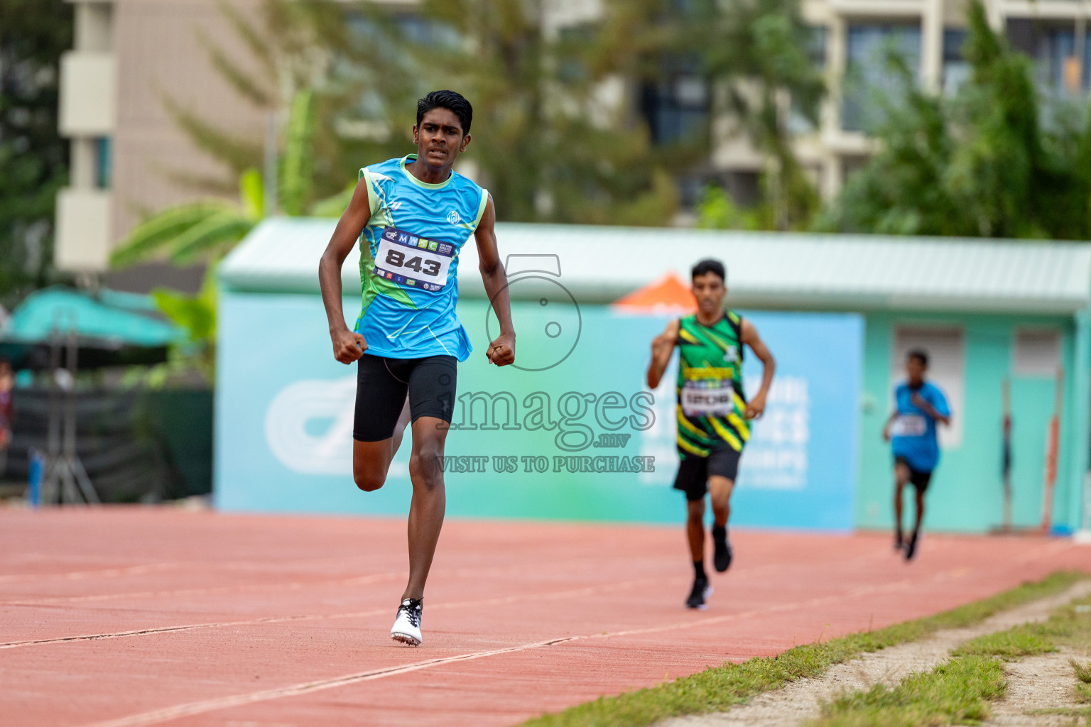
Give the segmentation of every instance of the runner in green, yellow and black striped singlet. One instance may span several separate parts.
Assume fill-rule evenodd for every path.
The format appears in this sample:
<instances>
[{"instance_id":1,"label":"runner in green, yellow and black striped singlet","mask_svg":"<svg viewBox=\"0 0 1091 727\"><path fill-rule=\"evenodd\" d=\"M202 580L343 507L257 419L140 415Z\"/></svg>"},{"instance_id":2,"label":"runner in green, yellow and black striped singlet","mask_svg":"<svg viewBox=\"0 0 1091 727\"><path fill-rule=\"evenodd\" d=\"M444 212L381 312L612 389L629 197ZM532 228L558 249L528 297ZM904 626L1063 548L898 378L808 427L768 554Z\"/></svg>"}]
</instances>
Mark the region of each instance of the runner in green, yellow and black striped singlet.
<instances>
[{"instance_id":1,"label":"runner in green, yellow and black striped singlet","mask_svg":"<svg viewBox=\"0 0 1091 727\"><path fill-rule=\"evenodd\" d=\"M681 462L674 488L686 496L686 534L693 556L694 583L690 608L705 608L712 589L705 571L705 495L712 502L712 543L716 570L731 565L728 517L739 458L750 439L750 421L765 411L776 362L752 323L726 311L728 293L723 264L697 263L691 271L694 315L672 320L651 343L648 386L656 388L679 348L678 450ZM747 402L743 391L743 347L762 361L762 386Z\"/></svg>"}]
</instances>

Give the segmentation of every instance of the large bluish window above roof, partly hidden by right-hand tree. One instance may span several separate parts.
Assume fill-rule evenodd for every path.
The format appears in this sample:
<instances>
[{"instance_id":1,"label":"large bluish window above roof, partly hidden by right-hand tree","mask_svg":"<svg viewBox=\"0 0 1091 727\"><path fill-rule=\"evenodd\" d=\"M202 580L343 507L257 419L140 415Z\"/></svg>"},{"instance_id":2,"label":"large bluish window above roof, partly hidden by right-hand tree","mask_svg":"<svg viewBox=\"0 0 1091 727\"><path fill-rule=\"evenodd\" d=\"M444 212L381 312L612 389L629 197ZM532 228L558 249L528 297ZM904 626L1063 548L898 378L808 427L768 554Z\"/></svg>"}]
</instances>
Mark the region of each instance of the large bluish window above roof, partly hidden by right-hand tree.
<instances>
[{"instance_id":1,"label":"large bluish window above roof, partly hidden by right-hand tree","mask_svg":"<svg viewBox=\"0 0 1091 727\"><path fill-rule=\"evenodd\" d=\"M915 83L921 65L920 25L850 24L841 105L841 128L874 130L885 107L904 94L901 76L888 59L898 57Z\"/></svg>"}]
</instances>

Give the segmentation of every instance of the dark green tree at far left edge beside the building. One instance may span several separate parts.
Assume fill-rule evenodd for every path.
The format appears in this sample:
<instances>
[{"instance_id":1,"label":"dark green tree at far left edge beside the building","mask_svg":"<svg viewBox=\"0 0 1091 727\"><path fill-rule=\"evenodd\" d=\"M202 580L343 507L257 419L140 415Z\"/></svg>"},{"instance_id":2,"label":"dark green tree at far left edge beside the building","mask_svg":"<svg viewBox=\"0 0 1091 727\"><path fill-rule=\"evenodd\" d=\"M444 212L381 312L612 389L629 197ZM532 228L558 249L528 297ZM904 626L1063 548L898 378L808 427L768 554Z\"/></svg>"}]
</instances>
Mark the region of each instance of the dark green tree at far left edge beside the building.
<instances>
[{"instance_id":1,"label":"dark green tree at far left edge beside the building","mask_svg":"<svg viewBox=\"0 0 1091 727\"><path fill-rule=\"evenodd\" d=\"M0 0L0 301L11 305L49 276L53 206L68 180L57 100L72 5Z\"/></svg>"}]
</instances>

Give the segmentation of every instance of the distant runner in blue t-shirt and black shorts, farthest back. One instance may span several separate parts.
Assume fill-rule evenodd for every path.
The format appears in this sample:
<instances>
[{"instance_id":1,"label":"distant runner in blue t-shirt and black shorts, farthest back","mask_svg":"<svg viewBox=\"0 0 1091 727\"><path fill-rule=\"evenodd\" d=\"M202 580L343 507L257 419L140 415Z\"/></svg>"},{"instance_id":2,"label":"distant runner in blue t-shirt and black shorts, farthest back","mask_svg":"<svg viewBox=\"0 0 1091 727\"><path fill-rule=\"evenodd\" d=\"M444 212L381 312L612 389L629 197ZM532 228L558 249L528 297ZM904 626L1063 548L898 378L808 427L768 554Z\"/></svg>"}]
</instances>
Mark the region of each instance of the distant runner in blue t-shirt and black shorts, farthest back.
<instances>
[{"instance_id":1,"label":"distant runner in blue t-shirt and black shorts, farthest back","mask_svg":"<svg viewBox=\"0 0 1091 727\"><path fill-rule=\"evenodd\" d=\"M924 519L924 493L932 481L932 471L939 463L939 441L936 424L950 424L950 409L939 387L924 380L928 354L910 351L906 356L904 384L895 389L895 410L883 428L883 437L894 450L894 538L895 548L904 552L906 560L916 554L916 541ZM916 521L909 541L901 535L901 494L906 483L916 490Z\"/></svg>"}]
</instances>

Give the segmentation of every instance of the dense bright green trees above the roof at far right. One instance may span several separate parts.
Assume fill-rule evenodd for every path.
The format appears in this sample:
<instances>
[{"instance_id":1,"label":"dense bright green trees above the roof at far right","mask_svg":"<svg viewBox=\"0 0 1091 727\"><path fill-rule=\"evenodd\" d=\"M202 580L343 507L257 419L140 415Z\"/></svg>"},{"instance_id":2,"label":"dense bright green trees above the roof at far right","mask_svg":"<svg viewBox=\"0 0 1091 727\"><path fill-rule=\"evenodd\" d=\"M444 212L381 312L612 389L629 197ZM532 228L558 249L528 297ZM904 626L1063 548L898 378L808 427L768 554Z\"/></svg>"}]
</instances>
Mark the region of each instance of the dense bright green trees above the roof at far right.
<instances>
[{"instance_id":1,"label":"dense bright green trees above the roof at far right","mask_svg":"<svg viewBox=\"0 0 1091 727\"><path fill-rule=\"evenodd\" d=\"M906 88L879 150L848 180L819 229L888 234L1082 240L1091 237L1091 114L1052 109L1030 60L968 7L971 78L951 98Z\"/></svg>"}]
</instances>

